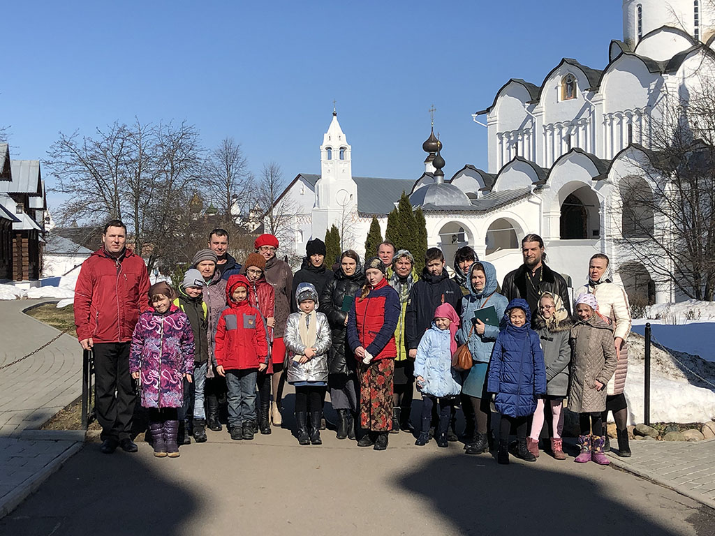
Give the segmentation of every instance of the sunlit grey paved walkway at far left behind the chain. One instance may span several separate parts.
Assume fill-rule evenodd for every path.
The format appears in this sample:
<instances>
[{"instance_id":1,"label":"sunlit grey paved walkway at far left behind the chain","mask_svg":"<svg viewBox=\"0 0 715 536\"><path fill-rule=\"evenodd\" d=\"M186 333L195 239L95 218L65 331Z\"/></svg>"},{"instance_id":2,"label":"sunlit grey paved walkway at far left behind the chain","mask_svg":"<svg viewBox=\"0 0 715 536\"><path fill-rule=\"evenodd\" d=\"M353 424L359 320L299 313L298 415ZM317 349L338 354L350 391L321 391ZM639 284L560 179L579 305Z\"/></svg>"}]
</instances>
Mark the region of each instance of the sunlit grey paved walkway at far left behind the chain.
<instances>
[{"instance_id":1,"label":"sunlit grey paved walkway at far left behind the chain","mask_svg":"<svg viewBox=\"0 0 715 536\"><path fill-rule=\"evenodd\" d=\"M0 301L0 367L29 354L57 330L22 311L43 299ZM0 437L18 437L41 427L82 394L82 350L62 335L41 352L0 370Z\"/></svg>"}]
</instances>

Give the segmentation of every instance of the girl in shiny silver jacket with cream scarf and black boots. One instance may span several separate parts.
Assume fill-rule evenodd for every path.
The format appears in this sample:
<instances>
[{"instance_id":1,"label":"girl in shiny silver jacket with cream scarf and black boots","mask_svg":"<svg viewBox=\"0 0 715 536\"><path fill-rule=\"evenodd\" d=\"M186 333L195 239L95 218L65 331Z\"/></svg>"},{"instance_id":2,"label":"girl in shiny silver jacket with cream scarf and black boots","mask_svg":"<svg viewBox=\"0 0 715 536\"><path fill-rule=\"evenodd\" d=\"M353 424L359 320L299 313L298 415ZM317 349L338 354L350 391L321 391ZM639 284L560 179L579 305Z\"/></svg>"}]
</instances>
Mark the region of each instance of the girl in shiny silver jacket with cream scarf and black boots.
<instances>
[{"instance_id":1,"label":"girl in shiny silver jacket with cream scarf and black boots","mask_svg":"<svg viewBox=\"0 0 715 536\"><path fill-rule=\"evenodd\" d=\"M301 283L295 290L300 312L291 314L285 326L289 357L286 379L295 387L295 422L300 445L321 445L320 418L327 389L327 350L332 338L327 317L317 312L317 290ZM310 432L307 415L310 412Z\"/></svg>"}]
</instances>

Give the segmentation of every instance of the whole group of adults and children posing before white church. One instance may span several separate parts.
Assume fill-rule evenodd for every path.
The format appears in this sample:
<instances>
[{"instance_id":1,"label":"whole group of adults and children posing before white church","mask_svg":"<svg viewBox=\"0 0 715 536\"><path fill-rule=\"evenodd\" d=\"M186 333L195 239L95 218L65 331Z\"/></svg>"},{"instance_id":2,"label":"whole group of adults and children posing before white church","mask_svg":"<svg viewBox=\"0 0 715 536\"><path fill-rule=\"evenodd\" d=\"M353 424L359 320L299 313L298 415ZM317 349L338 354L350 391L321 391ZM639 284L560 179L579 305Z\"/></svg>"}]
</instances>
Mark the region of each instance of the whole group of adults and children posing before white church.
<instances>
[{"instance_id":1,"label":"whole group of adults and children posing before white church","mask_svg":"<svg viewBox=\"0 0 715 536\"><path fill-rule=\"evenodd\" d=\"M207 441L206 427L222 430L222 407L232 440L270 434L282 425L287 381L300 445L321 444L330 392L337 439L360 447L385 450L400 430L413 432L415 445L447 447L458 440L461 407L467 454L495 447L500 463L510 452L536 461L546 423L546 450L564 460L568 399L581 426L577 462L608 463L608 411L618 454L630 455L623 387L631 316L604 254L590 259L572 317L568 285L547 266L536 234L523 238L523 264L501 289L495 267L470 247L456 253L450 277L438 248L418 274L413 254L390 242L364 264L347 250L329 266L325 244L313 239L292 274L275 236L258 237L239 264L228 233L215 229L174 291L149 286L121 221L109 222L102 240L82 265L74 307L79 341L94 351L102 452L137 451L134 382L154 455L177 457L191 437ZM423 400L416 429L415 382Z\"/></svg>"}]
</instances>

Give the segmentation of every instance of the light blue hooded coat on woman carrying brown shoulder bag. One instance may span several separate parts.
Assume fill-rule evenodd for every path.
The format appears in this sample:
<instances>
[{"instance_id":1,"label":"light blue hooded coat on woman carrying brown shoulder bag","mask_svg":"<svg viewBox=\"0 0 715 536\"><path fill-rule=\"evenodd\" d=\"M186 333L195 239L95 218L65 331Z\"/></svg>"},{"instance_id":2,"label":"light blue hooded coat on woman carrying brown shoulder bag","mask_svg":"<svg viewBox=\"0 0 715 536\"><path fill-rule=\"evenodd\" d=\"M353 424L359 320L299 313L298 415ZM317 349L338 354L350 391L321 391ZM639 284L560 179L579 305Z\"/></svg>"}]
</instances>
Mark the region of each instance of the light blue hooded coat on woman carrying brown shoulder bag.
<instances>
[{"instance_id":1,"label":"light blue hooded coat on woman carrying brown shoulder bag","mask_svg":"<svg viewBox=\"0 0 715 536\"><path fill-rule=\"evenodd\" d=\"M493 264L488 262L480 261L480 264L484 267L484 274L486 281L484 284L484 289L482 292L477 292L472 288L472 278L467 277L465 286L467 287L469 294L462 298L462 322L460 324L459 330L457 332L457 342L459 344L464 344L467 342L467 337L469 335L469 330L472 328L474 312L482 307L492 307L496 309L496 317L502 318L504 312L506 311L506 305L508 304L508 299L503 297L501 294L497 294L496 287L498 285L496 279L496 269ZM471 276L471 270L469 270L469 276ZM502 327L506 325L502 322ZM472 359L478 363L488 363L491 357L491 352L494 347L494 341L496 336L499 334L499 328L496 326L485 326L484 334L480 335L477 332L473 332L472 336L469 338L469 351L472 353Z\"/></svg>"}]
</instances>

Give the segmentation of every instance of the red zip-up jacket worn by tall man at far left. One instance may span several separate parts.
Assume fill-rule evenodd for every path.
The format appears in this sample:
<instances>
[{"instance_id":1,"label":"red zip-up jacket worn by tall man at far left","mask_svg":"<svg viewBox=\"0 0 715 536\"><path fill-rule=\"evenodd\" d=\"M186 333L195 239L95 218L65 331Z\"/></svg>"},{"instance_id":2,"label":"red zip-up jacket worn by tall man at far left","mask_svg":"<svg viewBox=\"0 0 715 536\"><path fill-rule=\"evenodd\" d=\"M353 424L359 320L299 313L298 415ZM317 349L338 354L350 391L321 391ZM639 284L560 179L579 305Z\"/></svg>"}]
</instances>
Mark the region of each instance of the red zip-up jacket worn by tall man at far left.
<instances>
[{"instance_id":1,"label":"red zip-up jacket worn by tall man at far left","mask_svg":"<svg viewBox=\"0 0 715 536\"><path fill-rule=\"evenodd\" d=\"M148 292L149 272L142 257L124 249L115 259L104 247L98 249L82 263L74 287L77 339L132 340L139 313L149 309Z\"/></svg>"}]
</instances>

